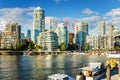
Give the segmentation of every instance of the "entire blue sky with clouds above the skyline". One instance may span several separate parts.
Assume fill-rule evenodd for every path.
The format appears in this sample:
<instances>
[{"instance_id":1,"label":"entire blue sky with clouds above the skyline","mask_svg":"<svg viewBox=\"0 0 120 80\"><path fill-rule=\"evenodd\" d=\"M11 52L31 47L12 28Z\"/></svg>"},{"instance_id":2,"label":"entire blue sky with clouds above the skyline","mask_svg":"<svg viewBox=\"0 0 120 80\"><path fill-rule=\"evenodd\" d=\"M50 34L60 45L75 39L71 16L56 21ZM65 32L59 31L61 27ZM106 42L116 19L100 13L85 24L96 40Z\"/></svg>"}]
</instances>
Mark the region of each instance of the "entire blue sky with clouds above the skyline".
<instances>
[{"instance_id":1,"label":"entire blue sky with clouds above the skyline","mask_svg":"<svg viewBox=\"0 0 120 80\"><path fill-rule=\"evenodd\" d=\"M76 20L87 22L91 34L99 34L101 20L106 21L106 29L111 24L120 25L120 0L0 0L1 27L14 21L22 26L22 32L32 29L33 10L38 6L45 10L46 26L50 18L59 23L66 17L70 31Z\"/></svg>"}]
</instances>

